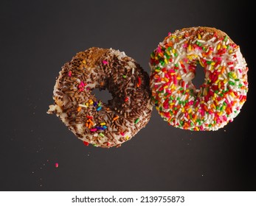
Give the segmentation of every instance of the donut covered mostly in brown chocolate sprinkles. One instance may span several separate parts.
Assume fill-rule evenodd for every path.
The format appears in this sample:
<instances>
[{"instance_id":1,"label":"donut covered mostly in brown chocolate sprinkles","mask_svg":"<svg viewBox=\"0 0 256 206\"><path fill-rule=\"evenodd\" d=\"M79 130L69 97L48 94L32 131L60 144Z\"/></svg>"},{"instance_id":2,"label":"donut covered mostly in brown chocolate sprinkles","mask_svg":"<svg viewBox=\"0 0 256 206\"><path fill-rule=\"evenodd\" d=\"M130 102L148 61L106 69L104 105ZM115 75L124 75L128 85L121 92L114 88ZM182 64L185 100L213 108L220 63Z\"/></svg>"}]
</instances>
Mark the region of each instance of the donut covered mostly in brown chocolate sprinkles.
<instances>
[{"instance_id":1,"label":"donut covered mostly in brown chocolate sprinkles","mask_svg":"<svg viewBox=\"0 0 256 206\"><path fill-rule=\"evenodd\" d=\"M108 103L94 89L108 90ZM53 90L56 114L87 146L110 148L130 140L151 118L149 75L134 59L114 49L78 52L59 72Z\"/></svg>"}]
</instances>

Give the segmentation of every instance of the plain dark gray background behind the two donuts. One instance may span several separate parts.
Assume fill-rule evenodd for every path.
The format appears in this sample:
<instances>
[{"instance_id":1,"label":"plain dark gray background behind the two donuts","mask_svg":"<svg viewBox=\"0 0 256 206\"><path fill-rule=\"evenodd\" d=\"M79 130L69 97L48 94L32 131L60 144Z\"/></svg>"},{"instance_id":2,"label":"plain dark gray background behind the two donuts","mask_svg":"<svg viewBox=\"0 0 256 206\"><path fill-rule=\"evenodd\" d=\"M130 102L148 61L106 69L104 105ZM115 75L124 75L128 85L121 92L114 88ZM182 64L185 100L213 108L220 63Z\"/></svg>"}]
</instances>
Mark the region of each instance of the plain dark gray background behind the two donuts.
<instances>
[{"instance_id":1,"label":"plain dark gray background behind the two donuts","mask_svg":"<svg viewBox=\"0 0 256 206\"><path fill-rule=\"evenodd\" d=\"M255 191L255 20L241 2L1 1L0 190ZM46 114L58 71L78 51L120 49L149 73L159 41L189 26L223 30L248 63L247 102L224 129L177 129L154 109L131 141L101 149Z\"/></svg>"}]
</instances>

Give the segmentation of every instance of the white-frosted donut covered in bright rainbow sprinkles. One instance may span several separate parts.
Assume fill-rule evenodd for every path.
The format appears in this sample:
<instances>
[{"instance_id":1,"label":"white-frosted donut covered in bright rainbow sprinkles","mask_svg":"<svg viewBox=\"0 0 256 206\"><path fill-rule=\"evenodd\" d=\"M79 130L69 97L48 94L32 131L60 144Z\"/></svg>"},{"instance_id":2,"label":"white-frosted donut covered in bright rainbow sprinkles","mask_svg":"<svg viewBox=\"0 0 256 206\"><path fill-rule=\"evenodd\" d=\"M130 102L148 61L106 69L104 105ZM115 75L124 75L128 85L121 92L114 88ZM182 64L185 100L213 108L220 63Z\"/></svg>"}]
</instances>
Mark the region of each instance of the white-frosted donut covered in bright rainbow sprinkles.
<instances>
[{"instance_id":1,"label":"white-frosted donut covered in bright rainbow sprinkles","mask_svg":"<svg viewBox=\"0 0 256 206\"><path fill-rule=\"evenodd\" d=\"M153 104L174 127L218 130L246 102L246 61L240 47L219 29L198 26L169 33L151 53L149 64ZM192 80L202 69L198 65L205 77L196 88Z\"/></svg>"}]
</instances>

